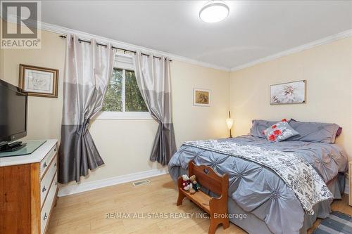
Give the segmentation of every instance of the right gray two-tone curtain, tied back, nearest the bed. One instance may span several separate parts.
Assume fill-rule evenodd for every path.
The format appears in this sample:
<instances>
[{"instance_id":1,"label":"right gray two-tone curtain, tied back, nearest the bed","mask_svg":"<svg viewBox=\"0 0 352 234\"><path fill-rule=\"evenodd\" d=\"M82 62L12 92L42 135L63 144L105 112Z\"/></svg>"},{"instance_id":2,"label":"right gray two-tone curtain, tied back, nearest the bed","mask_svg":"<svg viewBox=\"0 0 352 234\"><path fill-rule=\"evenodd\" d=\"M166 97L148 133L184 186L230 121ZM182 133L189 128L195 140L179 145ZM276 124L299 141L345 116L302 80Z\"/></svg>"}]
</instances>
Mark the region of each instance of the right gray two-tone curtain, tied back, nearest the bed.
<instances>
[{"instance_id":1,"label":"right gray two-tone curtain, tied back, nearest the bed","mask_svg":"<svg viewBox=\"0 0 352 234\"><path fill-rule=\"evenodd\" d=\"M154 58L153 54L134 55L135 75L146 107L158 122L158 131L151 150L151 161L167 165L176 152L175 134L171 118L170 61Z\"/></svg>"}]
</instances>

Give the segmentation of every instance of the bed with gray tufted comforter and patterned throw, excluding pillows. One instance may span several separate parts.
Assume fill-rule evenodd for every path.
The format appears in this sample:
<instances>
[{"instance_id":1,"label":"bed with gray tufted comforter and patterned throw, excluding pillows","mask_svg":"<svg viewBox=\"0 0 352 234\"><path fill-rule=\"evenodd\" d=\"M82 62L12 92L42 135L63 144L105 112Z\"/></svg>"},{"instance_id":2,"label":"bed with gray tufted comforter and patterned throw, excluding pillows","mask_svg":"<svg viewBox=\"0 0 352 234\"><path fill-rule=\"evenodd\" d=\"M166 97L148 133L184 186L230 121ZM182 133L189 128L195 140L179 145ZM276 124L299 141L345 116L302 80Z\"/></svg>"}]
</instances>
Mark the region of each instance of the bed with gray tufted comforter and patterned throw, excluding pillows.
<instances>
[{"instance_id":1,"label":"bed with gray tufted comforter and patterned throw, excluding pillows","mask_svg":"<svg viewBox=\"0 0 352 234\"><path fill-rule=\"evenodd\" d=\"M295 178L287 181L292 174L285 177L282 171L294 168L297 162L287 160L284 162L286 165L279 165L278 169L267 167L265 162L241 154L243 148L251 150L249 156L278 154L279 159L296 157L294 160L307 165L296 177L293 176ZM190 141L184 143L170 160L169 173L174 181L177 181L178 176L187 174L190 160L196 164L209 165L220 174L229 174L229 214L241 214L232 217L246 217L230 221L248 233L306 233L318 217L324 219L329 215L332 198L340 199L344 192L347 156L338 145L332 143L272 143L251 135ZM290 165L290 162L294 164ZM305 178L306 174L313 177ZM318 175L318 178L314 178L314 175ZM315 195L299 186L294 189L294 183L304 179L304 183L309 181L310 190L315 190L316 200L312 198ZM298 193L301 193L301 197ZM308 202L311 207L302 202L304 195L311 198Z\"/></svg>"}]
</instances>

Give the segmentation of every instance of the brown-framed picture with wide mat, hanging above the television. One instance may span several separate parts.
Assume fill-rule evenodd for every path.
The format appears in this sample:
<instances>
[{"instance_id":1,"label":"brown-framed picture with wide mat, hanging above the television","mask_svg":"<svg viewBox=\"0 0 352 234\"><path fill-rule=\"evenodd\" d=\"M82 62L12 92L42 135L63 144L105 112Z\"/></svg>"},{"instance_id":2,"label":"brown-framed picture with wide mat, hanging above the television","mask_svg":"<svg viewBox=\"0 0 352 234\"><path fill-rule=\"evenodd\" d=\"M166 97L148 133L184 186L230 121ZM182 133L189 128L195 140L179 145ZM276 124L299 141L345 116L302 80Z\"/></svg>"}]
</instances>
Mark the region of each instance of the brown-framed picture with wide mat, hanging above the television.
<instances>
[{"instance_id":1,"label":"brown-framed picture with wide mat, hanging above the television","mask_svg":"<svg viewBox=\"0 0 352 234\"><path fill-rule=\"evenodd\" d=\"M58 70L20 64L18 86L29 96L58 97Z\"/></svg>"}]
</instances>

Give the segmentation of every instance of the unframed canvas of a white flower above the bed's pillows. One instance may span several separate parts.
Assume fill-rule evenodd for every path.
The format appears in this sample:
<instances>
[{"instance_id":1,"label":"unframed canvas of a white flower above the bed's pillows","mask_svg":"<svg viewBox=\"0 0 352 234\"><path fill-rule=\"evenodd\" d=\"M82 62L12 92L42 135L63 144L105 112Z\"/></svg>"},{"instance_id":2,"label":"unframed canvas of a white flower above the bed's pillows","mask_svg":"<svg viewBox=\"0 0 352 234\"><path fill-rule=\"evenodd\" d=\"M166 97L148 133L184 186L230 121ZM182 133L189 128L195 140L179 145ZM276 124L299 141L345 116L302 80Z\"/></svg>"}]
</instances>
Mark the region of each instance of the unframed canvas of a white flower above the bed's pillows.
<instances>
[{"instance_id":1,"label":"unframed canvas of a white flower above the bed's pillows","mask_svg":"<svg viewBox=\"0 0 352 234\"><path fill-rule=\"evenodd\" d=\"M270 105L306 103L306 80L270 85Z\"/></svg>"}]
</instances>

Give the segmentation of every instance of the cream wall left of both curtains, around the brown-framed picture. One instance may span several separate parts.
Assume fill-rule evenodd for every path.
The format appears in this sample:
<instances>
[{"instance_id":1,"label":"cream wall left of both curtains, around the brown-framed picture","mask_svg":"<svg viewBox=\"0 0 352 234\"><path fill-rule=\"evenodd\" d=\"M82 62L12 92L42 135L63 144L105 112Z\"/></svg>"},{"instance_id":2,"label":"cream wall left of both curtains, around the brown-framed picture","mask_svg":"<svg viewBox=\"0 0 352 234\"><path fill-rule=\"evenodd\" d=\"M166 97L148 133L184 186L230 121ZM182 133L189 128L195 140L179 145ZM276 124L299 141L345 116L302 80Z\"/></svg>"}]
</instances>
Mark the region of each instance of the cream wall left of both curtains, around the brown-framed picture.
<instances>
[{"instance_id":1,"label":"cream wall left of both curtains, around the brown-framed picture","mask_svg":"<svg viewBox=\"0 0 352 234\"><path fill-rule=\"evenodd\" d=\"M28 97L28 129L24 139L59 138L63 105L65 41L42 32L41 49L1 49L0 79L18 86L20 63L58 69L58 98Z\"/></svg>"}]
</instances>

